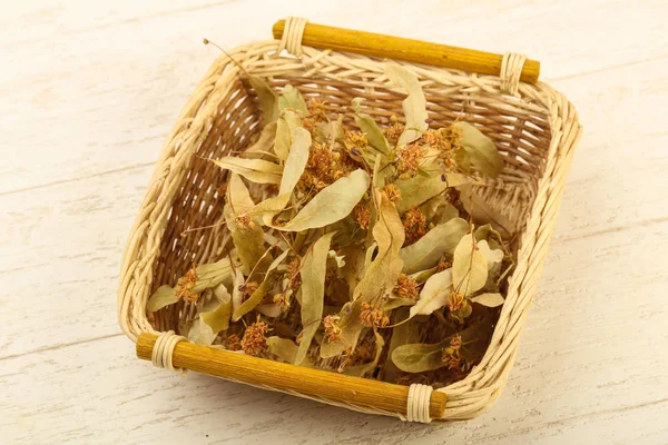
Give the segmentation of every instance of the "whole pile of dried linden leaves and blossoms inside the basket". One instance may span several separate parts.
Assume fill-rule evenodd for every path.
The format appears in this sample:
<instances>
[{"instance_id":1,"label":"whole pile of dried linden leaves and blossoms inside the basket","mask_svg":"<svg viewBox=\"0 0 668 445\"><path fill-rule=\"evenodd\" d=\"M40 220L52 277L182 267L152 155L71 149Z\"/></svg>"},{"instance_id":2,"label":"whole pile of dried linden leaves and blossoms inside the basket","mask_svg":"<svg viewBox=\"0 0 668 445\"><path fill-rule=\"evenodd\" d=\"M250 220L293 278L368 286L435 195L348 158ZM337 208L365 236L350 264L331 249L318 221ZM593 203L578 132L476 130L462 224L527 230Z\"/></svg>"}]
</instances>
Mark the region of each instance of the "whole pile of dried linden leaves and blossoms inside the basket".
<instances>
[{"instance_id":1,"label":"whole pile of dried linden leaves and blossoms inside the basket","mask_svg":"<svg viewBox=\"0 0 668 445\"><path fill-rule=\"evenodd\" d=\"M147 310L185 300L191 342L253 356L400 384L463 378L512 266L463 195L502 158L472 125L430 129L418 79L399 65L386 76L407 96L405 123L385 128L361 98L346 125L289 85L277 93L249 77L265 127L213 160L225 256L159 287Z\"/></svg>"}]
</instances>

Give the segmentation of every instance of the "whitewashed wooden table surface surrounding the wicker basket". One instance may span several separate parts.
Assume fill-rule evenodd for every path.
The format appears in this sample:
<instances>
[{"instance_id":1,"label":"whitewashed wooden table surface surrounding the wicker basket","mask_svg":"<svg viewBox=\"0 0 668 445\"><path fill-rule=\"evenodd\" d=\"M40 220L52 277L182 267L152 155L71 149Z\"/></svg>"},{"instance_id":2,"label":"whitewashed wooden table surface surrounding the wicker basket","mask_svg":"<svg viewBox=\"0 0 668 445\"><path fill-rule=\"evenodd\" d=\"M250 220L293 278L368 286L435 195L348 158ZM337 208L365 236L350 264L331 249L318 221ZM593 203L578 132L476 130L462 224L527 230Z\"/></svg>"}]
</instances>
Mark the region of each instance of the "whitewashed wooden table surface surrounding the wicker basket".
<instances>
[{"instance_id":1,"label":"whitewashed wooden table surface surrounding the wicker basket","mask_svg":"<svg viewBox=\"0 0 668 445\"><path fill-rule=\"evenodd\" d=\"M402 3L3 6L0 443L668 443L668 4ZM410 425L183 378L120 334L121 250L161 142L218 56L202 38L267 39L288 14L524 52L579 109L584 136L515 368L474 421Z\"/></svg>"}]
</instances>

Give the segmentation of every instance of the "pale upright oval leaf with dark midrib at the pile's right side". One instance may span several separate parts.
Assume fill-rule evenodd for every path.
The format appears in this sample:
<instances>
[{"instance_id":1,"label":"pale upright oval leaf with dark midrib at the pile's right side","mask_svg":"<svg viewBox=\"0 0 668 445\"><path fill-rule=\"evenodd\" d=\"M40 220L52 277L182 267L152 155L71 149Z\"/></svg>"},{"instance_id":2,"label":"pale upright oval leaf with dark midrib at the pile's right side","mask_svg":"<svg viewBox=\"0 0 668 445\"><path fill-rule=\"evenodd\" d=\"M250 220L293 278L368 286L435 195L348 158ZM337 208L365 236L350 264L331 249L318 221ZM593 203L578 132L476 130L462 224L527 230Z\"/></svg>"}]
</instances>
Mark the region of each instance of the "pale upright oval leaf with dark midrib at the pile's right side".
<instances>
[{"instance_id":1,"label":"pale upright oval leaf with dark midrib at the pile's right side","mask_svg":"<svg viewBox=\"0 0 668 445\"><path fill-rule=\"evenodd\" d=\"M484 255L473 243L473 235L464 235L454 249L452 258L452 280L454 289L465 297L482 289L488 277Z\"/></svg>"}]
</instances>

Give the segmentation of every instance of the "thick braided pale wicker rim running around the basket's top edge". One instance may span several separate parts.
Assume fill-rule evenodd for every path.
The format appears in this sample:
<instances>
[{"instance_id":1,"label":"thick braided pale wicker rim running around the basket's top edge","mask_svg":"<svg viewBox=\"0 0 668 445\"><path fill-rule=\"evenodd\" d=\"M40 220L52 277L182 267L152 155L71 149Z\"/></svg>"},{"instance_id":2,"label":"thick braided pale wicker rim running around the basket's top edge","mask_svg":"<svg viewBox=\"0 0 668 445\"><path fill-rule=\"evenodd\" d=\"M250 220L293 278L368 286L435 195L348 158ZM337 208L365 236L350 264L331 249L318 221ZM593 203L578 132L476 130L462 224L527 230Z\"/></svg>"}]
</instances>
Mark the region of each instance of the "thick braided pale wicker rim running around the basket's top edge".
<instances>
[{"instance_id":1,"label":"thick braided pale wicker rim running around the basket's top edge","mask_svg":"<svg viewBox=\"0 0 668 445\"><path fill-rule=\"evenodd\" d=\"M134 342L137 342L143 332L156 333L147 319L145 305L153 285L153 265L157 259L168 210L191 155L208 134L213 116L217 111L217 99L225 97L234 80L242 73L236 63L243 65L249 72L265 77L291 72L310 77L320 72L321 76L344 79L358 87L382 86L393 89L383 77L382 67L386 61L311 47L302 47L301 59L276 57L278 44L277 40L252 42L228 51L229 56L220 56L196 87L165 142L130 231L121 264L117 315L121 329ZM236 63L233 63L230 57L234 57ZM520 237L517 265L509 277L505 304L490 345L481 363L464 379L436 389L446 393L449 398L443 419L470 418L491 406L509 377L519 334L547 257L567 174L582 127L573 106L547 83L520 83L518 93L513 97L501 92L498 76L479 76L404 61L397 63L412 70L423 85L466 89L471 93L483 91L487 95L498 95L500 106L508 107L509 110L541 110L552 132L544 169L538 181L538 192ZM330 70L323 71L324 68ZM331 68L347 71L351 76L344 77ZM345 407L351 408L348 405Z\"/></svg>"}]
</instances>

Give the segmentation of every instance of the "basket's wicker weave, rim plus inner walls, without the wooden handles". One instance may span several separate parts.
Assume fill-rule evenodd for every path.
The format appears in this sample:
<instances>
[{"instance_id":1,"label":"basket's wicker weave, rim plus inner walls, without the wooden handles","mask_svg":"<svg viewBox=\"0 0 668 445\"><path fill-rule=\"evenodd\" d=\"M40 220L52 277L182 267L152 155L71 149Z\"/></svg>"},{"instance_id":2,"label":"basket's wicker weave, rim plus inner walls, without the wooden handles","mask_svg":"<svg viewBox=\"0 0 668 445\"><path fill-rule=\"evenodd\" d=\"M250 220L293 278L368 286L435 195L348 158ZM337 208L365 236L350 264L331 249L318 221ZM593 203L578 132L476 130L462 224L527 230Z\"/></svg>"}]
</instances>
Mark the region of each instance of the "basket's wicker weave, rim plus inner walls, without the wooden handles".
<instances>
[{"instance_id":1,"label":"basket's wicker weave, rim plus inner walls, without the wooden handles","mask_svg":"<svg viewBox=\"0 0 668 445\"><path fill-rule=\"evenodd\" d=\"M250 43L230 51L230 56L245 70L272 78L277 87L289 81L305 95L320 95L334 107L363 96L366 111L375 112L375 118L401 113L403 96L387 86L379 60L308 47L301 48L301 59L275 57L277 44ZM480 123L504 151L508 174L478 188L477 194L495 202L509 220L523 228L518 264L488 352L466 378L439 389L449 397L444 419L469 418L499 396L512 368L581 127L573 107L547 85L520 83L513 97L502 93L501 81L494 76L405 66L435 98L428 107L436 125L464 117ZM150 293L164 283L174 284L194 259L204 263L222 255L225 236L219 226L189 233L185 238L180 234L215 225L222 218L217 192L220 175L202 158L238 150L258 131L255 98L242 77L227 56L216 60L186 103L157 162L121 266L118 319L135 342L143 332L178 329L194 314L194 307L179 303L176 310L161 310L149 319L145 306ZM318 80L310 80L315 78ZM386 110L386 115L379 110Z\"/></svg>"}]
</instances>

